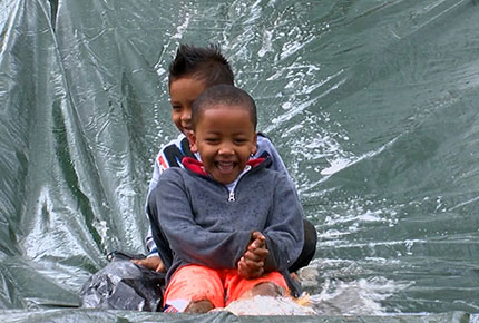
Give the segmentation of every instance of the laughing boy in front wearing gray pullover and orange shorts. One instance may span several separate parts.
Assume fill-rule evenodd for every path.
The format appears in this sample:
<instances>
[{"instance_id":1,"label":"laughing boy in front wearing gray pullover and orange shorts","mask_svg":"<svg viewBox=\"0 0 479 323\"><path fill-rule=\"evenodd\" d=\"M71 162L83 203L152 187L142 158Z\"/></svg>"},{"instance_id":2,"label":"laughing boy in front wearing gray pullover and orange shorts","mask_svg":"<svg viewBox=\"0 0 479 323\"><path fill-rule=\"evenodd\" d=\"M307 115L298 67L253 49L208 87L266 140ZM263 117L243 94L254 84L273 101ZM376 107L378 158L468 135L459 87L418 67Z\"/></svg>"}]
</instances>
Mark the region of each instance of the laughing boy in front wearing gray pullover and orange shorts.
<instances>
[{"instance_id":1,"label":"laughing boy in front wearing gray pullover and orange shorts","mask_svg":"<svg viewBox=\"0 0 479 323\"><path fill-rule=\"evenodd\" d=\"M147 207L154 233L173 251L167 311L207 312L289 290L287 268L304 244L303 211L270 158L250 159L256 123L253 99L233 86L208 88L193 104L188 139L202 161L185 157L185 169L166 169Z\"/></svg>"}]
</instances>

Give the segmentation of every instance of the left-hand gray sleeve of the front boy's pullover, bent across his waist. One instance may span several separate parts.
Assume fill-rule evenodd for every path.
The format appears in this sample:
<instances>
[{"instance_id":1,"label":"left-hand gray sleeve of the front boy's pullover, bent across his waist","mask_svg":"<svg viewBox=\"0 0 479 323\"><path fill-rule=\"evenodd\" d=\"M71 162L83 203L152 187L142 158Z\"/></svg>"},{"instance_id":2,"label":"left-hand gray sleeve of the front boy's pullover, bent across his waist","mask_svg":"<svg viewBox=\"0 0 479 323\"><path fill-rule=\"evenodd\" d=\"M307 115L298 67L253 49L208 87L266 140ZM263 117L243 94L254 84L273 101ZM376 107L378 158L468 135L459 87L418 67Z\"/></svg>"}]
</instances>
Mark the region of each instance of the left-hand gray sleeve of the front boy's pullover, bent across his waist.
<instances>
[{"instance_id":1,"label":"left-hand gray sleeve of the front boy's pullover, bent across his waist","mask_svg":"<svg viewBox=\"0 0 479 323\"><path fill-rule=\"evenodd\" d=\"M159 224L175 257L212 268L235 268L246 251L250 231L209 232L195 223L190 198L182 172L169 168L154 189Z\"/></svg>"}]
</instances>

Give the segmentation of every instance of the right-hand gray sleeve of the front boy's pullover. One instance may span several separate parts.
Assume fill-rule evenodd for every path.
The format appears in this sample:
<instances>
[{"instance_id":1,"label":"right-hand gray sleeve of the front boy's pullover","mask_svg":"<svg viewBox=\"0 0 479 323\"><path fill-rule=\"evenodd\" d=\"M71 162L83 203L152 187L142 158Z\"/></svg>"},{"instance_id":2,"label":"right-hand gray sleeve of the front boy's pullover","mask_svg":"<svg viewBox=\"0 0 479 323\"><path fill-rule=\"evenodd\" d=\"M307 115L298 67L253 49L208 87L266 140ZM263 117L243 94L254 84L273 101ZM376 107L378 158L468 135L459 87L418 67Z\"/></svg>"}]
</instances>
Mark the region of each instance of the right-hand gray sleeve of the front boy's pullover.
<instances>
[{"instance_id":1,"label":"right-hand gray sleeve of the front boy's pullover","mask_svg":"<svg viewBox=\"0 0 479 323\"><path fill-rule=\"evenodd\" d=\"M278 174L276 179L272 212L263 232L270 251L265 271L289 268L304 244L303 208L296 192L285 176Z\"/></svg>"}]
</instances>

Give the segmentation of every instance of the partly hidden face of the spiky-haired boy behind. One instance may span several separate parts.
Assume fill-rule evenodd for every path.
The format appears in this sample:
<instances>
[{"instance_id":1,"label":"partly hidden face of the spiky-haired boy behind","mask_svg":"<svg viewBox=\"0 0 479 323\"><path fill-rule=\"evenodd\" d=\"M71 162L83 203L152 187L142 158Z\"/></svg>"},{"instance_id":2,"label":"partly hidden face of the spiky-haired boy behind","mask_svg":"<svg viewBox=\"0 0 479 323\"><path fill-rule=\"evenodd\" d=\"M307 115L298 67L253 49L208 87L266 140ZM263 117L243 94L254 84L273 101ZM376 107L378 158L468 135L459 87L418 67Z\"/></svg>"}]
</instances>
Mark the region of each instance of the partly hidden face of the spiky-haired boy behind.
<instances>
[{"instance_id":1,"label":"partly hidden face of the spiky-haired boy behind","mask_svg":"<svg viewBox=\"0 0 479 323\"><path fill-rule=\"evenodd\" d=\"M193 77L178 78L169 84L172 119L179 131L192 131L193 101L206 89L204 82Z\"/></svg>"}]
</instances>

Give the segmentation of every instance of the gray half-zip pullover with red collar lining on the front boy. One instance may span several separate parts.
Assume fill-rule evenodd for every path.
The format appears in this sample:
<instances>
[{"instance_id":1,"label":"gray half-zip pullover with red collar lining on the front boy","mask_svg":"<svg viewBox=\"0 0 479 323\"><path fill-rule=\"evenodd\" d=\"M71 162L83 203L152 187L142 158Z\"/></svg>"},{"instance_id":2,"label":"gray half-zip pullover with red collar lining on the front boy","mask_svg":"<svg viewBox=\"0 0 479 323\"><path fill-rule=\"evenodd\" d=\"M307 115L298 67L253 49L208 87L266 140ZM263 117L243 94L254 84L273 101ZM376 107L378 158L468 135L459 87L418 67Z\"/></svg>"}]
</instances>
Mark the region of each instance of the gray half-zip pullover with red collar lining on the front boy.
<instances>
[{"instance_id":1,"label":"gray half-zip pullover with red collar lining on the front boy","mask_svg":"<svg viewBox=\"0 0 479 323\"><path fill-rule=\"evenodd\" d=\"M231 194L199 174L199 161L192 163L190 169L166 169L148 199L151 228L173 251L167 282L187 264L235 268L253 231L266 237L265 271L286 273L304 244L303 209L289 178L266 168L267 158L246 172Z\"/></svg>"}]
</instances>

